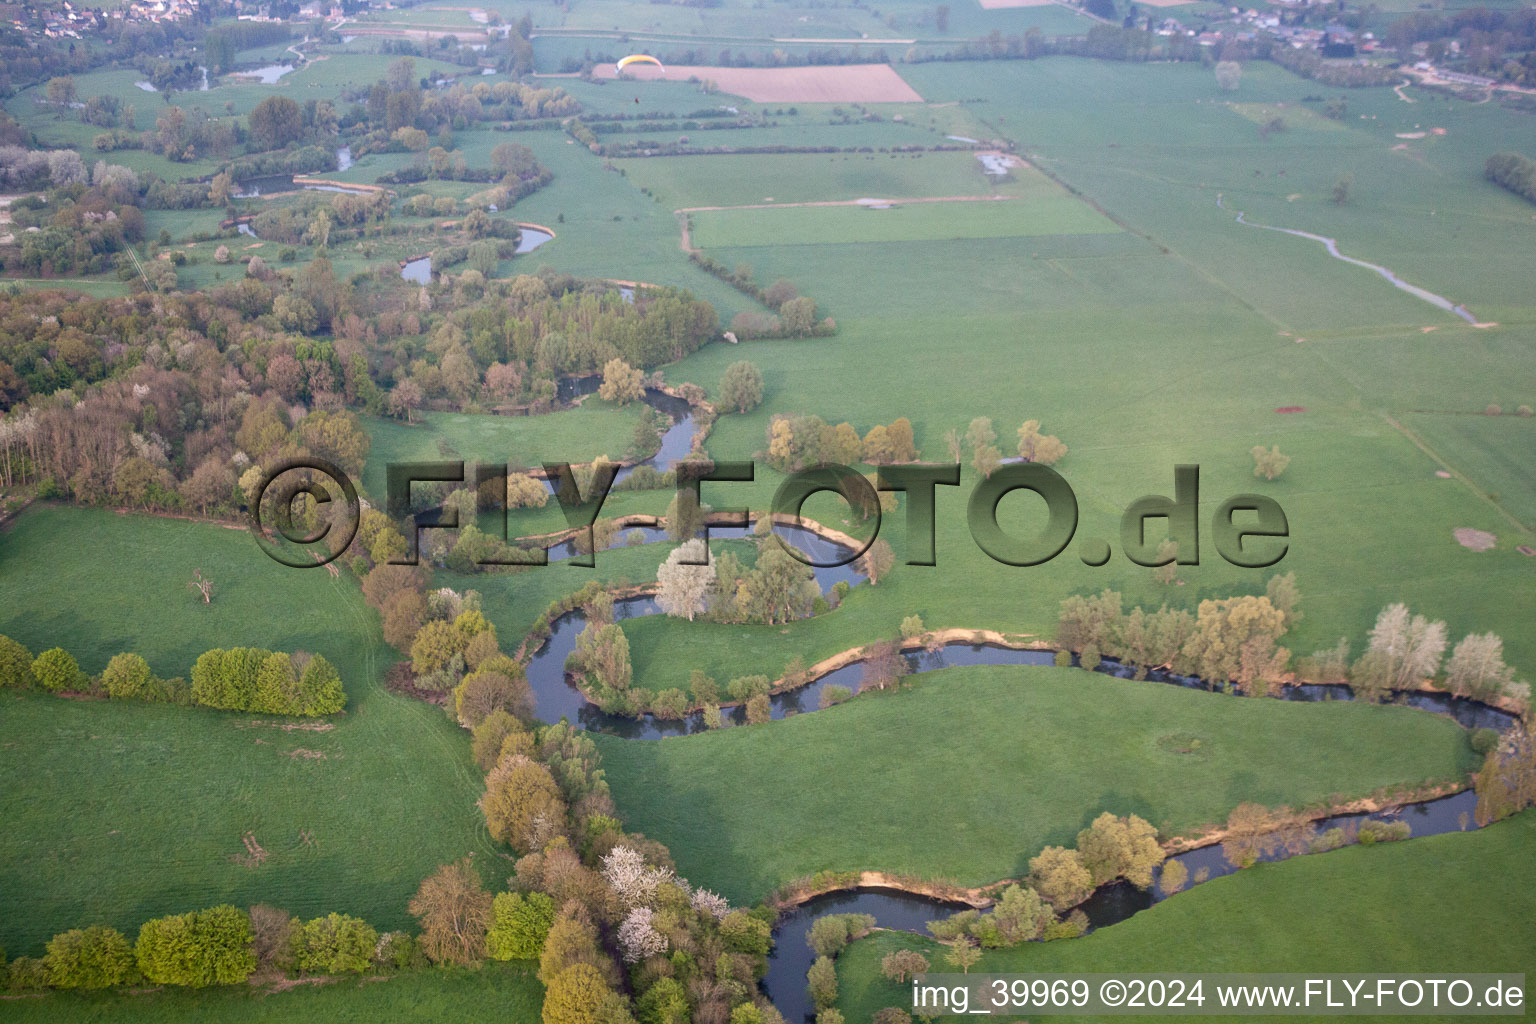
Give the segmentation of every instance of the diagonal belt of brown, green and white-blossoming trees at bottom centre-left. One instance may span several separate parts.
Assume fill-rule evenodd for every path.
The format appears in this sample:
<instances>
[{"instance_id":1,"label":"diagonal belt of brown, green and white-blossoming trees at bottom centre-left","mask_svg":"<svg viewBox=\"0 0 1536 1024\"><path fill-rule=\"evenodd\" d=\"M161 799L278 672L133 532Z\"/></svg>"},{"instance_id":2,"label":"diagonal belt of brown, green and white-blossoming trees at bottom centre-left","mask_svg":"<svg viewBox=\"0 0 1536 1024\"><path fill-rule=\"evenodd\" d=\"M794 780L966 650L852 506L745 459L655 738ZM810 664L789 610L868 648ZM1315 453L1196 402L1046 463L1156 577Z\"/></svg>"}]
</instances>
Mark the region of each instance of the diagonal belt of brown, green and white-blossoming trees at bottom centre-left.
<instances>
[{"instance_id":1,"label":"diagonal belt of brown, green and white-blossoming trees at bottom centre-left","mask_svg":"<svg viewBox=\"0 0 1536 1024\"><path fill-rule=\"evenodd\" d=\"M375 545L398 536L378 519L367 533ZM362 534L359 528L359 556ZM479 808L487 831L518 855L508 892L487 892L468 860L422 883L409 907L421 924L421 955L438 964L536 958L547 1024L690 1015L782 1024L756 986L771 912L733 910L680 878L665 846L624 831L596 745L568 723L533 720L522 665L501 652L478 596L429 593L430 574L418 567L359 570L390 642L410 649L416 683L425 689L458 679L449 712L470 732L473 758L485 771ZM593 582L554 602L530 639L576 606L611 625L611 597Z\"/></svg>"}]
</instances>

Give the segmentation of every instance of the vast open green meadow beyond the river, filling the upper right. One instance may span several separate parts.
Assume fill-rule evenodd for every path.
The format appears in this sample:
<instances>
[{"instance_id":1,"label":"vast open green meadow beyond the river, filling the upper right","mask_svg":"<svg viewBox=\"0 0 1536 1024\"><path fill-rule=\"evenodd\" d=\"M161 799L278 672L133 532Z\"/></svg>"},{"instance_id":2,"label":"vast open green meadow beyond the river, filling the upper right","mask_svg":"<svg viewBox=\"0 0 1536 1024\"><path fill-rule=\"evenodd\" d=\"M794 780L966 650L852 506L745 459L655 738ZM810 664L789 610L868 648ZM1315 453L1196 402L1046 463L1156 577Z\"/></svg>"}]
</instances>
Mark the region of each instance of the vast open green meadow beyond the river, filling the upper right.
<instances>
[{"instance_id":1,"label":"vast open green meadow beyond the river, filling the upper right","mask_svg":"<svg viewBox=\"0 0 1536 1024\"><path fill-rule=\"evenodd\" d=\"M1261 141L1256 126L1226 106L1209 72L1195 68L1041 60L988 68L986 75L954 64L903 74L925 97L963 100L985 91L975 114L998 132L1028 132L1028 157L1130 230L920 247L710 247L727 266L753 266L759 281L800 282L839 322L831 339L759 342L745 352L708 347L668 370L673 379L713 387L743 355L762 367L763 405L722 418L710 439L716 457L760 450L773 413L817 411L862 431L903 415L929 459L945 457L943 431L963 430L971 416L994 418L1005 451L1018 421L1038 418L1072 448L1057 468L1078 494L1083 537L1112 539L1120 510L1138 494L1167 493L1178 462L1201 465L1210 508L1247 490L1278 499L1293 530L1278 568L1298 574L1307 602L1307 617L1287 637L1293 651L1309 652L1341 634L1358 643L1378 608L1407 600L1445 619L1453 637L1499 633L1511 660L1530 674L1536 646L1524 623L1536 614L1536 591L1528 586L1531 563L1513 548L1530 543L1531 533L1484 497L1498 493L1516 520L1527 522L1518 511L1527 500L1519 481L1531 476L1531 447L1519 441L1527 421L1459 427L1479 418L1455 418L1458 430L1508 441L1468 436L1438 445L1444 427L1412 415L1479 411L1488 402L1510 410L1536 395L1536 309L1516 284L1533 252L1518 241L1530 232L1528 204L1481 180L1482 155L1504 144L1511 114L1447 109L1444 100L1425 109L1428 101L1402 104L1389 89L1353 91L1344 121L1295 117L1296 127ZM1290 109L1309 88L1253 64L1240 98ZM1028 97L1028 106L1018 97ZM1362 112L1375 120L1359 120ZM1091 118L1092 134L1084 130ZM1396 132L1416 121L1442 121L1448 135L1416 143L1422 152L1410 160L1392 146ZM1178 130L1167 130L1169 123ZM668 204L691 206L690 189L700 200L759 190L759 200L783 198L766 181L710 186L702 172L633 163L631 175L654 183ZM809 166L797 161L788 180L808 180ZM1355 173L1358 198L1335 207L1326 193L1341 170ZM857 192L857 177L833 187ZM1218 190L1226 212L1215 207ZM1233 209L1261 223L1335 235L1346 252L1465 299L1501 325L1461 324L1370 272L1338 264L1316 243L1233 224ZM703 229L708 215L699 216ZM1475 267L1487 252L1508 253L1508 266L1478 278ZM929 372L935 359L943 372ZM1290 405L1307 411L1275 413ZM1413 431L1422 427L1427 447L1473 487L1438 479L1441 464L1393 421ZM1295 456L1284 477L1253 479L1246 453L1255 444L1278 444ZM759 485L731 494L765 504L777 476L759 467ZM914 611L929 626L1049 634L1058 599L1072 591L1107 585L1130 602L1192 608L1203 597L1263 585L1263 573L1203 559L1183 574L1187 586L1163 590L1120 559L1087 571L1075 548L1048 567L1009 570L975 551L963 525L968 487L940 491L940 570L899 565L863 605L849 602L825 622L794 623L785 633L737 631L734 642L716 639L708 625L625 623L637 669L648 666L642 685L653 671L667 680L657 685L674 685L677 671L685 676L694 663L728 679L777 669L794 654L814 660L894 631ZM1452 539L1458 527L1495 533L1499 548L1459 548ZM885 530L900 556L900 516ZM677 662L688 665L674 671Z\"/></svg>"}]
</instances>

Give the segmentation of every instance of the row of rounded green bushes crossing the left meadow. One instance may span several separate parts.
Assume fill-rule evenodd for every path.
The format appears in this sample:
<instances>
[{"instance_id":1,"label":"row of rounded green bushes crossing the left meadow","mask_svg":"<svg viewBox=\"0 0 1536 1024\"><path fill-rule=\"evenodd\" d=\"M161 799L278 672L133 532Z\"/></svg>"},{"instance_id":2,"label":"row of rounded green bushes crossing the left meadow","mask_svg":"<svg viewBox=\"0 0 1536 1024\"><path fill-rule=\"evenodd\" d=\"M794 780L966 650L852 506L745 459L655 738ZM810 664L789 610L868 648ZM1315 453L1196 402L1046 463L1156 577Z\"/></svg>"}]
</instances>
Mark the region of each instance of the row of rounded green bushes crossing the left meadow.
<instances>
[{"instance_id":1,"label":"row of rounded green bushes crossing the left meadow","mask_svg":"<svg viewBox=\"0 0 1536 1024\"><path fill-rule=\"evenodd\" d=\"M323 656L261 648L206 651L187 685L160 679L138 654L117 654L100 676L91 676L63 648L34 659L22 643L0 636L0 686L283 715L327 715L347 703L341 676Z\"/></svg>"}]
</instances>

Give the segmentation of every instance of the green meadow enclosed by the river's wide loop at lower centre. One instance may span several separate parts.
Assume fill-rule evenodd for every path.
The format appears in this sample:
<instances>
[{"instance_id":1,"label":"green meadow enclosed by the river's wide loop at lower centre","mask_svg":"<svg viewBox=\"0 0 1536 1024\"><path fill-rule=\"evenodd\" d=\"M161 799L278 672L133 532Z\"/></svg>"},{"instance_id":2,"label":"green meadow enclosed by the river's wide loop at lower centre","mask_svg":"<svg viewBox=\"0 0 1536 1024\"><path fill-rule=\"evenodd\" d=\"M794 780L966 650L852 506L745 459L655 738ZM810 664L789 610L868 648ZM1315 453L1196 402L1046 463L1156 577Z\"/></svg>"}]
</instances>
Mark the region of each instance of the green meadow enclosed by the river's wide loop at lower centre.
<instances>
[{"instance_id":1,"label":"green meadow enclosed by the river's wide loop at lower centre","mask_svg":"<svg viewBox=\"0 0 1536 1024\"><path fill-rule=\"evenodd\" d=\"M1210 752L1161 749L1174 732L1204 737ZM946 669L911 692L768 726L598 740L630 827L736 901L820 869L980 884L1028 872L1043 846L1071 846L1104 811L1178 835L1249 800L1301 808L1475 766L1465 732L1419 711L1057 668Z\"/></svg>"}]
</instances>

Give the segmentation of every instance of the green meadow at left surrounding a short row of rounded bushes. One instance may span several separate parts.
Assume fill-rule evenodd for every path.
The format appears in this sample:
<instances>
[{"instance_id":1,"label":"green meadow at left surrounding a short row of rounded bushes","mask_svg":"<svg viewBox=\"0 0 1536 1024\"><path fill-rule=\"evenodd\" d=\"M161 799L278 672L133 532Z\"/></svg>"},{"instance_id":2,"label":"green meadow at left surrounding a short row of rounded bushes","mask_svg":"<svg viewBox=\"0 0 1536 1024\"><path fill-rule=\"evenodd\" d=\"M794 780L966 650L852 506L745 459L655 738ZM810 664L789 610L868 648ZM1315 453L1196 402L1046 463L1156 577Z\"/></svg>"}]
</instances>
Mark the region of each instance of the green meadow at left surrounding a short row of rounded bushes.
<instances>
[{"instance_id":1,"label":"green meadow at left surrounding a short row of rounded bushes","mask_svg":"<svg viewBox=\"0 0 1536 1024\"><path fill-rule=\"evenodd\" d=\"M210 605L186 582L201 568ZM439 863L492 857L479 774L433 706L379 688L393 652L356 583L267 559L243 530L37 508L0 534L0 633L98 672L137 651L186 676L212 646L324 654L347 711L327 731L137 702L0 695L0 943L215 903L339 910L402 927ZM301 831L312 834L304 843ZM246 867L241 837L269 854ZM410 837L409 841L402 841Z\"/></svg>"}]
</instances>

